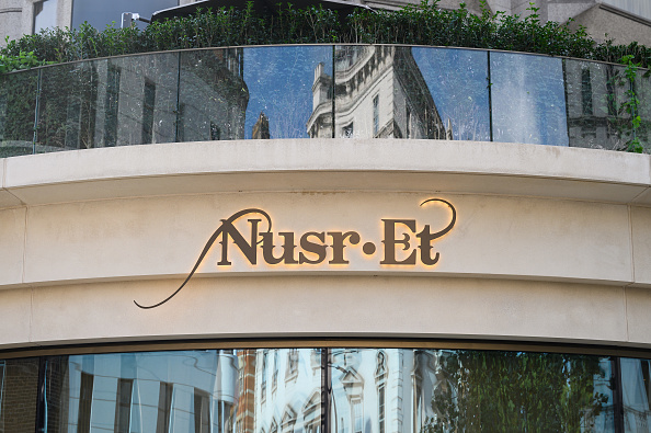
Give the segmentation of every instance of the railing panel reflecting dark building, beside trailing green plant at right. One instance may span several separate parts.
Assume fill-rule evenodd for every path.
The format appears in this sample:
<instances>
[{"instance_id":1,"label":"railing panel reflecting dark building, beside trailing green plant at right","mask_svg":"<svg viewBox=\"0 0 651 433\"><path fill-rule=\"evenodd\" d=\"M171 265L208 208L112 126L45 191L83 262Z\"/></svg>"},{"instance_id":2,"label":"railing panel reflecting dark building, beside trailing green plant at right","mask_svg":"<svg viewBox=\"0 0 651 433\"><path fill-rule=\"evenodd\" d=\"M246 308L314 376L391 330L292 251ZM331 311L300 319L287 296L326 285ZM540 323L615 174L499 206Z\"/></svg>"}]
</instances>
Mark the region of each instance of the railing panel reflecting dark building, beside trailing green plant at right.
<instances>
[{"instance_id":1,"label":"railing panel reflecting dark building, beside trailing green plant at right","mask_svg":"<svg viewBox=\"0 0 651 433\"><path fill-rule=\"evenodd\" d=\"M564 68L570 146L626 149L624 67L567 59Z\"/></svg>"}]
</instances>

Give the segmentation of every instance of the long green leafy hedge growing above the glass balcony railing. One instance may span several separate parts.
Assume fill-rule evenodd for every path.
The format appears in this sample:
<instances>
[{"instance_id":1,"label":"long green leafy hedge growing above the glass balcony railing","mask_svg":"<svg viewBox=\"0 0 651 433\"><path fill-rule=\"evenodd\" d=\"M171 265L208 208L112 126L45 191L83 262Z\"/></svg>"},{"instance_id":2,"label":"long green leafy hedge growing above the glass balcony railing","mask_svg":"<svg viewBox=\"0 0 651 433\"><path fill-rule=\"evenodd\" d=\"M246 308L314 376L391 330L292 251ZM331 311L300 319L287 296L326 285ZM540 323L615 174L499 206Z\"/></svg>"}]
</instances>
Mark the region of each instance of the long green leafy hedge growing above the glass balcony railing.
<instances>
[{"instance_id":1,"label":"long green leafy hedge growing above the glass balcony railing","mask_svg":"<svg viewBox=\"0 0 651 433\"><path fill-rule=\"evenodd\" d=\"M47 29L9 41L5 57L32 53L39 61L73 61L104 56L237 45L361 43L462 46L506 49L617 62L624 56L641 67L651 65L651 49L637 43L596 43L570 23L540 23L538 9L525 16L492 13L486 1L475 15L465 4L458 10L432 4L408 5L399 11L357 10L347 16L322 8L295 9L286 3L275 14L259 14L251 2L244 9L220 8L137 27L98 31Z\"/></svg>"}]
</instances>

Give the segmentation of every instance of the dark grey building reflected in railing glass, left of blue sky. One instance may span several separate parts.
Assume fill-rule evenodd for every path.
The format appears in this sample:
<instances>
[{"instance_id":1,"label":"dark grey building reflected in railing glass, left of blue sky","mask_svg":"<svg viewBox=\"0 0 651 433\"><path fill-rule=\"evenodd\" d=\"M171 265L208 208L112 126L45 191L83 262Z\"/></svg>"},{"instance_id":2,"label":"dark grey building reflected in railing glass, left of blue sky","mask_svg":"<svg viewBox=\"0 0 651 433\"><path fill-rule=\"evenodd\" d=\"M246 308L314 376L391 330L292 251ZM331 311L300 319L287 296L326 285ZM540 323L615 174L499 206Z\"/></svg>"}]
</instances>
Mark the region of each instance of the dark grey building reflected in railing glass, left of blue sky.
<instances>
[{"instance_id":1,"label":"dark grey building reflected in railing glass, left of blue sky","mask_svg":"<svg viewBox=\"0 0 651 433\"><path fill-rule=\"evenodd\" d=\"M242 48L46 68L42 88L38 151L244 138Z\"/></svg>"}]
</instances>

